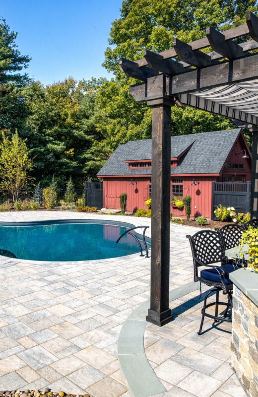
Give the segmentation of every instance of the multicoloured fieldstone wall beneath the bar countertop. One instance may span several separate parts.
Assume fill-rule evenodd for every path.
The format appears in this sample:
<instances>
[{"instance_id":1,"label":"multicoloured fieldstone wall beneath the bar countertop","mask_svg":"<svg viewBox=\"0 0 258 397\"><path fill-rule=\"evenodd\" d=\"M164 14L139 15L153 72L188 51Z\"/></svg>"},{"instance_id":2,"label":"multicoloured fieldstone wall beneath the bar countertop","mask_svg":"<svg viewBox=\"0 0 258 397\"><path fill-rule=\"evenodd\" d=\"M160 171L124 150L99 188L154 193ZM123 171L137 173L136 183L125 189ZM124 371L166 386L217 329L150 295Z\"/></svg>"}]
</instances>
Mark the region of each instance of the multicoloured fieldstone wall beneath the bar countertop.
<instances>
[{"instance_id":1,"label":"multicoloured fieldstone wall beneath the bar countertop","mask_svg":"<svg viewBox=\"0 0 258 397\"><path fill-rule=\"evenodd\" d=\"M249 397L258 396L258 307L236 286L233 293L232 356Z\"/></svg>"}]
</instances>

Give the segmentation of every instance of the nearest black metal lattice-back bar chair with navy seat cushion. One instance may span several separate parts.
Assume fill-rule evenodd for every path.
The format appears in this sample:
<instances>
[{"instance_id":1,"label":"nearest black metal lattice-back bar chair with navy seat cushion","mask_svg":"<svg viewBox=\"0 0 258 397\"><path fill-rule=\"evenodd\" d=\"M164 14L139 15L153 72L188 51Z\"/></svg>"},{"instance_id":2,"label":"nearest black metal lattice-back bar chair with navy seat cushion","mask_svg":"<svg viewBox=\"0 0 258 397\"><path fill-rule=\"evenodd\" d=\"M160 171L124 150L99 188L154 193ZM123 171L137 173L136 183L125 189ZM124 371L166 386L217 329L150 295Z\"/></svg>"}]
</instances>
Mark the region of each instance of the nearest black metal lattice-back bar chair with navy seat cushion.
<instances>
[{"instance_id":1,"label":"nearest black metal lattice-back bar chair with navy seat cushion","mask_svg":"<svg viewBox=\"0 0 258 397\"><path fill-rule=\"evenodd\" d=\"M214 319L216 321L231 322L231 318L227 318L229 306L232 307L232 290L233 283L229 278L232 271L240 266L227 264L225 257L224 243L221 234L217 230L201 230L194 236L187 235L190 241L193 262L194 262L194 281L200 281L205 285L214 287L209 290L204 298L203 308L201 310L202 318L198 335L201 334L204 317ZM216 264L216 265L215 265ZM204 269L198 272L199 267ZM200 284L201 285L201 284ZM219 292L227 294L228 302L219 302ZM207 298L210 294L216 292L215 302L207 304ZM215 305L215 315L206 313L206 309ZM226 306L224 317L218 317L219 305Z\"/></svg>"}]
</instances>

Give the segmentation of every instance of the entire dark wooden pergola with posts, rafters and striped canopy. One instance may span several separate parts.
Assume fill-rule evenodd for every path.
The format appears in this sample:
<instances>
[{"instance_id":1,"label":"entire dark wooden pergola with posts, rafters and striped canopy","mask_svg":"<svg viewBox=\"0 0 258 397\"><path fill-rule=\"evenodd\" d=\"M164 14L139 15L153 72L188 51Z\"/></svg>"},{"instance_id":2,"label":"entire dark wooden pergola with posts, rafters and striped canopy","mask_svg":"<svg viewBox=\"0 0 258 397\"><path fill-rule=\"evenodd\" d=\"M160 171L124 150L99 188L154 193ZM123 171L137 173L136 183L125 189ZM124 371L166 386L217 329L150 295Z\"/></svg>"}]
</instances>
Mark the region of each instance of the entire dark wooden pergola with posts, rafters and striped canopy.
<instances>
[{"instance_id":1,"label":"entire dark wooden pergola with posts, rafters and striped canopy","mask_svg":"<svg viewBox=\"0 0 258 397\"><path fill-rule=\"evenodd\" d=\"M192 106L248 125L252 134L251 216L258 218L258 17L223 32L206 28L192 43L175 38L159 54L120 60L127 76L143 81L129 92L152 108L151 296L146 320L163 326L169 309L171 106ZM233 39L247 36L243 43ZM212 52L200 49L211 47ZM178 57L177 62L174 58ZM222 142L223 144L223 142Z\"/></svg>"}]
</instances>

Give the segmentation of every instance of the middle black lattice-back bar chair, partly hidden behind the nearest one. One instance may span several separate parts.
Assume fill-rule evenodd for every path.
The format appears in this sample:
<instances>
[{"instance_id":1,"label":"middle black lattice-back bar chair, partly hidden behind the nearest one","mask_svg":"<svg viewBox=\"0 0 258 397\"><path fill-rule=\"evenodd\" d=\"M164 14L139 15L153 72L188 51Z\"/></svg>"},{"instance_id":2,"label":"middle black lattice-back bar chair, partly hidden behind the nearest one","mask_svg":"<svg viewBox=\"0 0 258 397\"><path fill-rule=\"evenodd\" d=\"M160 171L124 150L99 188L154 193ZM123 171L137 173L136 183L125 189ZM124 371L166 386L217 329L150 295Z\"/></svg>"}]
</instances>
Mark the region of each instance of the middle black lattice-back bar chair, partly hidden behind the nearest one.
<instances>
[{"instance_id":1,"label":"middle black lattice-back bar chair, partly hidden behind the nearest one","mask_svg":"<svg viewBox=\"0 0 258 397\"><path fill-rule=\"evenodd\" d=\"M221 239L224 244L224 249L229 250L230 248L234 248L239 245L239 241L241 239L242 233L246 230L242 225L229 223L228 225L223 226L221 229L215 228L216 231L219 232ZM244 265L247 266L247 261L245 259L228 259L226 257L227 264L229 265Z\"/></svg>"}]
</instances>

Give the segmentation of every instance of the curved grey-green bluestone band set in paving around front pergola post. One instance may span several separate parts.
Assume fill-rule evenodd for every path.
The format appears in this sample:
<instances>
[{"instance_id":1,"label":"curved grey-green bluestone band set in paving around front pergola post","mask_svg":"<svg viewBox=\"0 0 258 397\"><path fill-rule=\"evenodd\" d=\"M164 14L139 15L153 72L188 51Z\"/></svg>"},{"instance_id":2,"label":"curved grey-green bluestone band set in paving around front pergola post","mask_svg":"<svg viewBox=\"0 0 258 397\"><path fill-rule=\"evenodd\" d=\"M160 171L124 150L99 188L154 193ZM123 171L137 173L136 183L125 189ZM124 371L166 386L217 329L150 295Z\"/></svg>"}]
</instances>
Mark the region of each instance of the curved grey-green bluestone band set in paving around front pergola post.
<instances>
[{"instance_id":1,"label":"curved grey-green bluestone band set in paving around front pergola post","mask_svg":"<svg viewBox=\"0 0 258 397\"><path fill-rule=\"evenodd\" d=\"M196 289L198 285L191 281L171 290L169 300L178 299ZM148 324L145 318L149 305L150 300L143 302L131 312L123 324L118 339L118 359L132 397L149 397L167 393L145 355L144 332Z\"/></svg>"}]
</instances>

